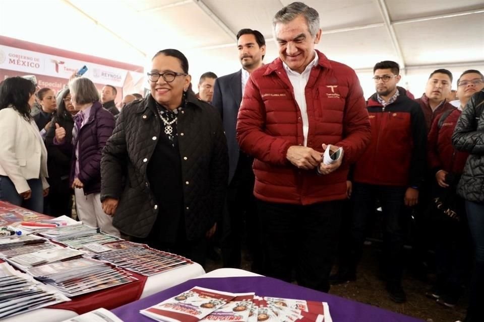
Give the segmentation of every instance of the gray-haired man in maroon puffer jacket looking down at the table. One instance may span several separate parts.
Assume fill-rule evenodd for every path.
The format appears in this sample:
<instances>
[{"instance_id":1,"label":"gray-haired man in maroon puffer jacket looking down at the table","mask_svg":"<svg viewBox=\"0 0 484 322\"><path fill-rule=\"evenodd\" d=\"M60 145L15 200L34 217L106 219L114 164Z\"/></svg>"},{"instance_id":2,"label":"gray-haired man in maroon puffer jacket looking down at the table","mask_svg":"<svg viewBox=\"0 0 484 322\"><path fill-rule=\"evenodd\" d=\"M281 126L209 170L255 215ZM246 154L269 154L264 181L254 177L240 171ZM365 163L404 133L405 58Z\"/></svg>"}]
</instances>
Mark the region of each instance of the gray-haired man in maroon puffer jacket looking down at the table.
<instances>
[{"instance_id":1,"label":"gray-haired man in maroon puffer jacket looking down at the table","mask_svg":"<svg viewBox=\"0 0 484 322\"><path fill-rule=\"evenodd\" d=\"M279 58L252 72L237 119L240 149L255 158L263 274L290 282L295 269L299 285L327 292L348 168L370 143L368 112L354 70L314 49L315 9L292 3L273 27Z\"/></svg>"}]
</instances>

